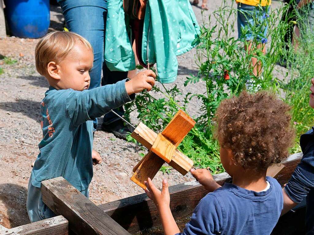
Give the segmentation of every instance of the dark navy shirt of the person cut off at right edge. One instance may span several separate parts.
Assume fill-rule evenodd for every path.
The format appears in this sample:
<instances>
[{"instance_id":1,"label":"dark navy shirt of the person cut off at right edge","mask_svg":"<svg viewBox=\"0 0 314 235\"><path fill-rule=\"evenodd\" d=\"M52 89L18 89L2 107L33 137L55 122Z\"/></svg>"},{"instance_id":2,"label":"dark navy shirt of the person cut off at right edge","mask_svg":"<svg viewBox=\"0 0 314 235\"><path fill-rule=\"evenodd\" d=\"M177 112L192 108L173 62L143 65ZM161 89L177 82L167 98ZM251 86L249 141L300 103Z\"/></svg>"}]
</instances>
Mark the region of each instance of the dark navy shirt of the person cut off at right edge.
<instances>
[{"instance_id":1,"label":"dark navy shirt of the person cut off at right edge","mask_svg":"<svg viewBox=\"0 0 314 235\"><path fill-rule=\"evenodd\" d=\"M303 157L284 189L296 203L307 197L306 234L314 234L314 127L301 135L300 146Z\"/></svg>"}]
</instances>

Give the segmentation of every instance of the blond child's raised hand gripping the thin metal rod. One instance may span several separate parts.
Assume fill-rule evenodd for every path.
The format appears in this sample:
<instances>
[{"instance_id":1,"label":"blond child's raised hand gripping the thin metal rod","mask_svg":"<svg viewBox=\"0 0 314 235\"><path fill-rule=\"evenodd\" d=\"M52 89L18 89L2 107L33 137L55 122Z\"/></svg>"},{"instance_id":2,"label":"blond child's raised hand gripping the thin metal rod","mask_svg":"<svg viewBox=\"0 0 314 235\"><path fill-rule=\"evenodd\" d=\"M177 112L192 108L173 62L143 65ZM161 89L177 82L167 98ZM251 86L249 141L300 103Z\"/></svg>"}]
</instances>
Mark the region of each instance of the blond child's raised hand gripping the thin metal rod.
<instances>
[{"instance_id":1,"label":"blond child's raised hand gripping the thin metal rod","mask_svg":"<svg viewBox=\"0 0 314 235\"><path fill-rule=\"evenodd\" d=\"M131 80L125 83L127 94L139 93L143 90L150 91L155 85L156 74L151 70L139 72Z\"/></svg>"}]
</instances>

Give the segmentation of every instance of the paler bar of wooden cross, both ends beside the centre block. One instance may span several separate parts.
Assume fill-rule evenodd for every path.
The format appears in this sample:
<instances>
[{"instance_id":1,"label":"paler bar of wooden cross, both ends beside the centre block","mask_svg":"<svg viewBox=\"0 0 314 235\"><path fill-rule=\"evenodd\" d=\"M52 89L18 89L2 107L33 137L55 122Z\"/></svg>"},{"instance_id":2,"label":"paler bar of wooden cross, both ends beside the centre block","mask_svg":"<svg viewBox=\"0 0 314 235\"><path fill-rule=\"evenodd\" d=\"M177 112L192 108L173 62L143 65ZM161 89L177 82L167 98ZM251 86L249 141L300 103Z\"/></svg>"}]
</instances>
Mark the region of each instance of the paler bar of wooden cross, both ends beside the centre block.
<instances>
[{"instance_id":1,"label":"paler bar of wooden cross, both ends beside the centre block","mask_svg":"<svg viewBox=\"0 0 314 235\"><path fill-rule=\"evenodd\" d=\"M148 149L151 149L155 139L157 138L157 134L143 123L138 124L131 136ZM182 175L185 175L192 168L193 161L176 149L169 165ZM137 166L139 166L139 164ZM137 168L135 166L133 168L133 172L135 172L136 169Z\"/></svg>"}]
</instances>

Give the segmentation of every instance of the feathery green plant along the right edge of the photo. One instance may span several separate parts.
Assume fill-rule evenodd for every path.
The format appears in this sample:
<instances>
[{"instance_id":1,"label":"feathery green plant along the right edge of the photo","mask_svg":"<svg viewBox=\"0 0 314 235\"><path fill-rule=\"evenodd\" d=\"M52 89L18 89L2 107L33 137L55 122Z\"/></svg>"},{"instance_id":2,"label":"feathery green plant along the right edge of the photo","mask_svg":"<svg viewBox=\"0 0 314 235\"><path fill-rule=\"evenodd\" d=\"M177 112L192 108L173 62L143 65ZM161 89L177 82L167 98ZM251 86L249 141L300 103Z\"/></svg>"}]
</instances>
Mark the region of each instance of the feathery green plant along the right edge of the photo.
<instances>
[{"instance_id":1,"label":"feathery green plant along the right edge of the photo","mask_svg":"<svg viewBox=\"0 0 314 235\"><path fill-rule=\"evenodd\" d=\"M302 14L300 14L300 11ZM309 106L309 88L314 77L314 32L310 14L313 14L310 4L296 11L300 36L294 38L297 47L286 51L288 83L284 85L285 101L292 109L292 119L296 129L296 144L291 152L300 152L299 138L302 133L313 126L314 109Z\"/></svg>"}]
</instances>

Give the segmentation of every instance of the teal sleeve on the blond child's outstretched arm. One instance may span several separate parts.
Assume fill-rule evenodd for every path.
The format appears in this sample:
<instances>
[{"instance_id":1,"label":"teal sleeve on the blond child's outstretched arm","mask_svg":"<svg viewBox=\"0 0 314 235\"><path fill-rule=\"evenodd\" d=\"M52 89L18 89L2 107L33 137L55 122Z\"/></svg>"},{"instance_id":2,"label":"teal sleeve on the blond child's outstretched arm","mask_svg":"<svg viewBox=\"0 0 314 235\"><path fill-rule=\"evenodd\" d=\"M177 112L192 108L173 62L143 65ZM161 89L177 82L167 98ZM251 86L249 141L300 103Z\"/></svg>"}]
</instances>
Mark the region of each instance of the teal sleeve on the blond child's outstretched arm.
<instances>
[{"instance_id":1,"label":"teal sleeve on the blond child's outstretched arm","mask_svg":"<svg viewBox=\"0 0 314 235\"><path fill-rule=\"evenodd\" d=\"M108 113L111 109L132 101L125 89L125 80L115 84L97 87L91 90L71 91L68 94L66 107L73 126L94 120Z\"/></svg>"}]
</instances>

